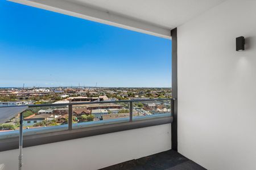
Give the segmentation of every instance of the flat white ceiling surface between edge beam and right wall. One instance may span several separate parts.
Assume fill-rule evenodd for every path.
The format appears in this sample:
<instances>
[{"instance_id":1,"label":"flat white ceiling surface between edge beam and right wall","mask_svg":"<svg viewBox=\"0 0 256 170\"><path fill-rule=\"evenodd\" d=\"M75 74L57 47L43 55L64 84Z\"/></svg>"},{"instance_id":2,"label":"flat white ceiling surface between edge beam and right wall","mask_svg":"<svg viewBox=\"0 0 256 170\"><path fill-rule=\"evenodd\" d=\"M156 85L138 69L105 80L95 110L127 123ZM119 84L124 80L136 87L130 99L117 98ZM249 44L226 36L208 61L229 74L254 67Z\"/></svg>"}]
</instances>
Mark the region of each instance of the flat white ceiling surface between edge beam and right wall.
<instances>
[{"instance_id":1,"label":"flat white ceiling surface between edge beam and right wall","mask_svg":"<svg viewBox=\"0 0 256 170\"><path fill-rule=\"evenodd\" d=\"M68 0L171 29L225 0Z\"/></svg>"}]
</instances>

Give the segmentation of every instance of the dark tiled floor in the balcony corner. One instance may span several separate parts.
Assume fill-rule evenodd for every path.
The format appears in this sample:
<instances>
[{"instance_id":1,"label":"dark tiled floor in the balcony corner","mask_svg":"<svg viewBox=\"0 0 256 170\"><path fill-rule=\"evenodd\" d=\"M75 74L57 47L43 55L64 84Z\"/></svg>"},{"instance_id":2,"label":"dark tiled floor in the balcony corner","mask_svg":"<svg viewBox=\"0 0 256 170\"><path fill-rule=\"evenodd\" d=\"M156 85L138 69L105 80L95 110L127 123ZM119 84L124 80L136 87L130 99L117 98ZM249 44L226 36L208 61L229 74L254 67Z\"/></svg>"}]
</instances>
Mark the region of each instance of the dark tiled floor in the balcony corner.
<instances>
[{"instance_id":1,"label":"dark tiled floor in the balcony corner","mask_svg":"<svg viewBox=\"0 0 256 170\"><path fill-rule=\"evenodd\" d=\"M112 165L101 170L151 170L151 169L169 169L169 170L205 170L199 164L192 162L176 151L169 150L159 154L146 156L136 160L130 160L120 164Z\"/></svg>"}]
</instances>

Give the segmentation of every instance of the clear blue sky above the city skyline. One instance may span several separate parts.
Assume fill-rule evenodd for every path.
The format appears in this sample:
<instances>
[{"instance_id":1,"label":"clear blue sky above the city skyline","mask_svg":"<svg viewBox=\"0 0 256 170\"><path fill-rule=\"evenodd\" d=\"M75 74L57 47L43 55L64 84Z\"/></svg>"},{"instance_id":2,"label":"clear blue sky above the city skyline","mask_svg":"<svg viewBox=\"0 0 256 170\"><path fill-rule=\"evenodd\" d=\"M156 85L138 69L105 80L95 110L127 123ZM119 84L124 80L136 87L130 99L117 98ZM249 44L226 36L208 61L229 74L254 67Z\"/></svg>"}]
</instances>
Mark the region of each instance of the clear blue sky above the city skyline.
<instances>
[{"instance_id":1,"label":"clear blue sky above the city skyline","mask_svg":"<svg viewBox=\"0 0 256 170\"><path fill-rule=\"evenodd\" d=\"M171 40L0 0L0 87L171 87Z\"/></svg>"}]
</instances>

